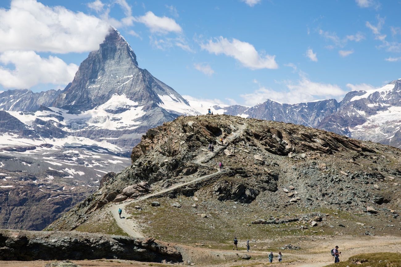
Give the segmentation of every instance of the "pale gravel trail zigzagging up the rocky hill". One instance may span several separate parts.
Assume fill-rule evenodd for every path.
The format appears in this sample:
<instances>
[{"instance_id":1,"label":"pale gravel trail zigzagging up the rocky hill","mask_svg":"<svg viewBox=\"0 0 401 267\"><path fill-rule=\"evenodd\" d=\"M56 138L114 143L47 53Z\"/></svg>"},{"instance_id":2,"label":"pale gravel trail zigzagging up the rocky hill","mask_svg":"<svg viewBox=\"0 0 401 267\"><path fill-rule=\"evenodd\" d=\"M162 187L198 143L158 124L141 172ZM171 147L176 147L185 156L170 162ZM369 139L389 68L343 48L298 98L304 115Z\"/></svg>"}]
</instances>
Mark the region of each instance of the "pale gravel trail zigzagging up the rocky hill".
<instances>
[{"instance_id":1,"label":"pale gravel trail zigzagging up the rocky hill","mask_svg":"<svg viewBox=\"0 0 401 267\"><path fill-rule=\"evenodd\" d=\"M204 167L208 167L209 168L210 166L207 166L205 162L209 161L210 159L215 157L215 155L217 155L217 153L219 153L222 150L224 150L225 147L227 147L227 144L231 140L233 140L234 138L239 136L244 131L244 129L246 127L247 127L246 124L237 124L238 130L235 130L235 132L234 131L231 132L231 134L225 138L225 144L226 144L225 146L221 145L215 150L215 152L207 153L206 155L204 153L199 153L199 155L194 158L193 162L198 164L198 165L202 165ZM171 187L169 187L167 189L163 189L163 190L155 192L155 193L150 193L148 195L144 195L142 197L138 197L137 199L126 200L126 201L123 201L123 202L120 202L120 203L111 203L109 205L109 207L107 208L107 211L111 212L111 214L113 215L113 218L115 219L117 225L121 229L123 229L123 231L126 232L128 235L130 235L132 237L144 237L144 235L140 231L140 227L139 227L138 223L134 219L132 219L132 218L128 219L126 217L126 216L128 216L128 214L126 213L127 205L132 204L132 203L136 203L136 202L139 202L139 201L143 201L143 200L149 199L151 197L156 197L158 195L162 195L164 193L167 193L169 191L173 191L174 189L177 189L177 188L180 188L180 187L185 187L185 186L190 185L192 183L197 183L199 181L206 180L206 179L208 179L210 177L214 177L214 176L218 175L219 173L224 173L224 171L220 171L219 168L217 168L217 171L215 173L204 175L204 176L198 177L196 179L193 179L193 180L185 182L185 183L178 183L178 184L173 185L173 186L171 186ZM121 219L119 218L119 215L118 215L118 209L119 208L123 210L123 213L121 215L122 216Z\"/></svg>"}]
</instances>

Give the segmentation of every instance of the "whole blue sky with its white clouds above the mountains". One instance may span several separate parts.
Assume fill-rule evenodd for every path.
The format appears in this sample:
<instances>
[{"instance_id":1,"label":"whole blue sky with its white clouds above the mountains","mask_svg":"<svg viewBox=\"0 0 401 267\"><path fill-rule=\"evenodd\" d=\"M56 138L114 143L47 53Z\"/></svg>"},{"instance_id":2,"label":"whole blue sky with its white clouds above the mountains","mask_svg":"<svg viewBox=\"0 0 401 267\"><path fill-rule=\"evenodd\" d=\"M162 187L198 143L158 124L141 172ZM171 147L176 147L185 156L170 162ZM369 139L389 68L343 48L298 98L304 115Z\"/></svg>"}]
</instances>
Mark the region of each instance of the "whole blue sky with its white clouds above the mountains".
<instances>
[{"instance_id":1,"label":"whole blue sky with its white clouds above the mountains","mask_svg":"<svg viewBox=\"0 0 401 267\"><path fill-rule=\"evenodd\" d=\"M64 88L109 24L141 68L182 95L226 104L341 100L401 78L401 1L13 0L0 8L1 90Z\"/></svg>"}]
</instances>

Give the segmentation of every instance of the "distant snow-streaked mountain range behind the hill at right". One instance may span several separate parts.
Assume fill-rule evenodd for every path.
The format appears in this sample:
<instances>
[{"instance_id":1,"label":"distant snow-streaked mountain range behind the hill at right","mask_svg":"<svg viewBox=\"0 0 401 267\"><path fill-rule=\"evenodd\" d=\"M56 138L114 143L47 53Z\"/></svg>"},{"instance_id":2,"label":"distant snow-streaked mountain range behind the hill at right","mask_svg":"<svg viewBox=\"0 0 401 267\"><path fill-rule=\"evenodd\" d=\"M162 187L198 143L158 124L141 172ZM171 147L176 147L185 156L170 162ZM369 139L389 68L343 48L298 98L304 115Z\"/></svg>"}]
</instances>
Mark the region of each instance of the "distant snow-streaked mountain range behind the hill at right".
<instances>
[{"instance_id":1,"label":"distant snow-streaked mountain range behind the hill at right","mask_svg":"<svg viewBox=\"0 0 401 267\"><path fill-rule=\"evenodd\" d=\"M213 104L209 104L213 106ZM299 104L267 100L252 107L224 106L221 113L301 124L401 147L401 79L369 91L352 91L335 99Z\"/></svg>"}]
</instances>

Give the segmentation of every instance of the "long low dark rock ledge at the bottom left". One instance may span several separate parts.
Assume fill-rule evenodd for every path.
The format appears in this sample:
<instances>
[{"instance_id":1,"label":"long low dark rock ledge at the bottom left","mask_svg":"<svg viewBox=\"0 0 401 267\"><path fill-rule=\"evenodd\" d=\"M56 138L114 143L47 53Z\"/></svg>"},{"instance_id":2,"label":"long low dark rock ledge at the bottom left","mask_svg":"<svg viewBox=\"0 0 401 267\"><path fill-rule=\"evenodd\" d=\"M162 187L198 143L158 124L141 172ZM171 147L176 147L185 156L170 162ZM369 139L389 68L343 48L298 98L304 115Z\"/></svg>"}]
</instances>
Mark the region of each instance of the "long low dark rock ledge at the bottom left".
<instances>
[{"instance_id":1,"label":"long low dark rock ledge at the bottom left","mask_svg":"<svg viewBox=\"0 0 401 267\"><path fill-rule=\"evenodd\" d=\"M181 254L152 238L79 232L0 230L0 260L129 259L182 262Z\"/></svg>"}]
</instances>

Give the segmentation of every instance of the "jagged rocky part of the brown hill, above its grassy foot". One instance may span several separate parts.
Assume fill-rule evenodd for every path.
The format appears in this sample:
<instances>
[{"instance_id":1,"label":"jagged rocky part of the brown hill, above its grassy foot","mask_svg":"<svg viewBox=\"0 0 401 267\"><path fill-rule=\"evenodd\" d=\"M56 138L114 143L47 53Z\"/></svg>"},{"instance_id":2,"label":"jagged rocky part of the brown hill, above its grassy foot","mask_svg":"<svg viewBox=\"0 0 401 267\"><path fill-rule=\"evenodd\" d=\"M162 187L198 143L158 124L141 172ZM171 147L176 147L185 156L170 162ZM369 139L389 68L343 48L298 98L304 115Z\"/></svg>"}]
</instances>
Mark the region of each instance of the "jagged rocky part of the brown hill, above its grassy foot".
<instances>
[{"instance_id":1,"label":"jagged rocky part of the brown hill, above its grassy foot","mask_svg":"<svg viewBox=\"0 0 401 267\"><path fill-rule=\"evenodd\" d=\"M209 143L213 153L207 150ZM124 188L141 181L151 185L150 196L202 195L206 203L251 203L267 214L272 208L291 213L322 207L366 212L372 201L375 209L389 213L399 209L393 192L399 192L400 153L282 122L228 115L179 117L150 129L132 150L130 167L48 229L75 229ZM217 170L219 162L223 171Z\"/></svg>"}]
</instances>

